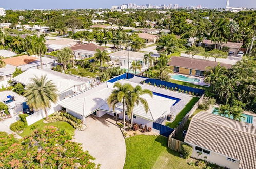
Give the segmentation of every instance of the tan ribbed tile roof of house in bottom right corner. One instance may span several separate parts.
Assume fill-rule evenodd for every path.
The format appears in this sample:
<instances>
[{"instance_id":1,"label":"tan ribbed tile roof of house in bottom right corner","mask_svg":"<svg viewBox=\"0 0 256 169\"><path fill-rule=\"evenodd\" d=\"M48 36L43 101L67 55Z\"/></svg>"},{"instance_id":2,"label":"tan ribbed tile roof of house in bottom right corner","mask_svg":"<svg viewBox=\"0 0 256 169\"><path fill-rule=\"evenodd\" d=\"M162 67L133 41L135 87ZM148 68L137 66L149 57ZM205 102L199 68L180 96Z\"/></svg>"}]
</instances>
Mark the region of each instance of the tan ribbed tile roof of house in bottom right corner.
<instances>
[{"instance_id":1,"label":"tan ribbed tile roof of house in bottom right corner","mask_svg":"<svg viewBox=\"0 0 256 169\"><path fill-rule=\"evenodd\" d=\"M184 142L240 160L240 168L256 166L253 124L200 112L192 117Z\"/></svg>"}]
</instances>

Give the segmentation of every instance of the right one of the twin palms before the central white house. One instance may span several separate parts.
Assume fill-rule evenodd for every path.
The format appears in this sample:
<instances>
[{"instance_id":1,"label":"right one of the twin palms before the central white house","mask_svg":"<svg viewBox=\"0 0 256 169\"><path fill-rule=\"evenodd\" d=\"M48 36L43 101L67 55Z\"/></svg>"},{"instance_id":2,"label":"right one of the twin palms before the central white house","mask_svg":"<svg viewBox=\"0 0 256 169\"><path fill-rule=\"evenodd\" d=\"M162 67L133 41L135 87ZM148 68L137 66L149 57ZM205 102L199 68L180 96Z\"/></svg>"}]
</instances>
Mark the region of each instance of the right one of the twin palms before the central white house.
<instances>
[{"instance_id":1,"label":"right one of the twin palms before the central white house","mask_svg":"<svg viewBox=\"0 0 256 169\"><path fill-rule=\"evenodd\" d=\"M133 124L133 109L135 105L139 105L140 103L144 107L146 113L149 111L148 102L145 98L140 96L148 94L151 98L153 97L153 93L148 89L142 89L140 85L136 85L135 88L129 94L129 107L127 108L128 115L130 114L131 118L131 126Z\"/></svg>"}]
</instances>

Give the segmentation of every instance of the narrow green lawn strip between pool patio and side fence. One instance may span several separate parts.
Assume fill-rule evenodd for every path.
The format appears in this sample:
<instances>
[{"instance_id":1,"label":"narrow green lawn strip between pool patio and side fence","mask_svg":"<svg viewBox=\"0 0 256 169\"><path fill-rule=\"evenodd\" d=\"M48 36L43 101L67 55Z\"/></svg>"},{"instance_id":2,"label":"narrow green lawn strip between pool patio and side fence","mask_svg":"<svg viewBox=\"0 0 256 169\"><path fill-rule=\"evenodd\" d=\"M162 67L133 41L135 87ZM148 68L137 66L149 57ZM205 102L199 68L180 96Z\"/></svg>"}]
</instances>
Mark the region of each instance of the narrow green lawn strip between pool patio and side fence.
<instances>
[{"instance_id":1,"label":"narrow green lawn strip between pool patio and side fence","mask_svg":"<svg viewBox=\"0 0 256 169\"><path fill-rule=\"evenodd\" d=\"M176 128L183 117L193 108L194 104L198 102L198 97L193 97L186 106L180 111L173 122L166 122L166 125L170 128Z\"/></svg>"}]
</instances>

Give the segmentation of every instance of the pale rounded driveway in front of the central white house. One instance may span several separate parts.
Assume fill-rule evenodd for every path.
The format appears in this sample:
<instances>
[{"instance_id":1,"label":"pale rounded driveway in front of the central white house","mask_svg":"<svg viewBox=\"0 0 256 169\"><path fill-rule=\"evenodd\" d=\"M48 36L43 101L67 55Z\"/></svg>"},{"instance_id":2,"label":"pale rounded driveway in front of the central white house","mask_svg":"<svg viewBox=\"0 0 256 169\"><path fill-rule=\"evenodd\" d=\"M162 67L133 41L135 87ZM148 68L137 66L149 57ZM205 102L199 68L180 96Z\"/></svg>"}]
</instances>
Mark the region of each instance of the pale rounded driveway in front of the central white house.
<instances>
[{"instance_id":1,"label":"pale rounded driveway in front of the central white house","mask_svg":"<svg viewBox=\"0 0 256 169\"><path fill-rule=\"evenodd\" d=\"M96 158L101 168L121 169L125 163L126 146L122 132L114 118L105 114L101 118L90 115L86 118L87 128L75 131L75 142Z\"/></svg>"}]
</instances>

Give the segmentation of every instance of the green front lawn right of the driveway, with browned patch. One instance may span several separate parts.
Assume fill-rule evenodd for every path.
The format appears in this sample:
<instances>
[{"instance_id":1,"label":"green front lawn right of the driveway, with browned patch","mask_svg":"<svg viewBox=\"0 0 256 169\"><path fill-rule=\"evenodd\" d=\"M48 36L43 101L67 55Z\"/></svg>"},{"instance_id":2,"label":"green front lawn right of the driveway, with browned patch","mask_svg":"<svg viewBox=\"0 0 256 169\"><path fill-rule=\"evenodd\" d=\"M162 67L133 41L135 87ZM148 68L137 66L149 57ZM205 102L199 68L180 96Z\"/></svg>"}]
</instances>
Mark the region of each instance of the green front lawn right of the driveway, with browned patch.
<instances>
[{"instance_id":1,"label":"green front lawn right of the driveway, with browned patch","mask_svg":"<svg viewBox=\"0 0 256 169\"><path fill-rule=\"evenodd\" d=\"M166 137L137 135L126 138L125 142L124 168L196 168L180 158L180 153L167 148Z\"/></svg>"}]
</instances>

